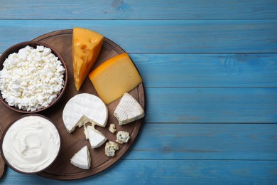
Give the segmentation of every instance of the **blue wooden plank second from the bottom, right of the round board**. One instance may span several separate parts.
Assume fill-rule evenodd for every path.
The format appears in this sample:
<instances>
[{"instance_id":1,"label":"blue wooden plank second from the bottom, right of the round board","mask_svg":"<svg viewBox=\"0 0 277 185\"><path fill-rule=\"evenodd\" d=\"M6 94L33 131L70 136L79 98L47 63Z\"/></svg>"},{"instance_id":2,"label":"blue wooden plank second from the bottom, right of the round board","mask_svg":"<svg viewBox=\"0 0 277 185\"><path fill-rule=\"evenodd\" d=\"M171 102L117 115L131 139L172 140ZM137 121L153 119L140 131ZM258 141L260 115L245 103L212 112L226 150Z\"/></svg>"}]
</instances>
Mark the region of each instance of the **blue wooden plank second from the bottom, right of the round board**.
<instances>
[{"instance_id":1,"label":"blue wooden plank second from the bottom, right of the round board","mask_svg":"<svg viewBox=\"0 0 277 185\"><path fill-rule=\"evenodd\" d=\"M144 123L125 159L277 160L276 124Z\"/></svg>"}]
</instances>

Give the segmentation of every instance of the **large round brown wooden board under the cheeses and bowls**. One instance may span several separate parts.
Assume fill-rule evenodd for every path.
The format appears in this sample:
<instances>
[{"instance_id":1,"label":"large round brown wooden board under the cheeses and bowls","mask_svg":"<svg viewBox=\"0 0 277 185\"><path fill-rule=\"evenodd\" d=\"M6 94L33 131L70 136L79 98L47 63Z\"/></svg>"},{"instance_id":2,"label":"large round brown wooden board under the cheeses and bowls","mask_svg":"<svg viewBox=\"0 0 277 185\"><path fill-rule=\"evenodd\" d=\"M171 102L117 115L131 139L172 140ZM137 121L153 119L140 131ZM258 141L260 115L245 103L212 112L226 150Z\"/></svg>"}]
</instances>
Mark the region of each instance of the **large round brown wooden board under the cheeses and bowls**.
<instances>
[{"instance_id":1,"label":"large round brown wooden board under the cheeses and bowls","mask_svg":"<svg viewBox=\"0 0 277 185\"><path fill-rule=\"evenodd\" d=\"M71 134L68 133L65 129L65 125L63 124L63 107L65 106L66 102L70 100L70 98L74 95L80 93L91 93L93 95L97 95L97 92L94 89L89 78L85 80L78 92L75 89L72 70L72 30L53 31L50 33L46 33L43 36L39 36L38 38L33 39L33 41L40 41L53 46L53 48L55 48L64 58L68 70L68 84L67 89L65 90L65 95L63 95L59 102L57 102L56 105L54 105L50 110L46 110L40 113L41 115L49 117L51 120L53 120L55 125L57 125L62 136L62 141L61 151L58 159L53 165L51 165L47 170L43 171L39 175L45 176L50 179L71 180L92 176L99 173L100 171L103 171L104 169L107 169L109 166L118 161L131 147L131 144L134 142L139 133L139 129L143 120L137 120L136 122L132 122L128 125L120 126L113 115L114 109L116 105L118 105L119 100L116 100L115 102L112 102L107 106L109 110L109 119L107 125L105 128L96 126L96 129L102 132L110 141L116 140L116 133L120 130L124 130L130 133L129 142L127 144L119 144L120 149L116 151L116 155L114 157L107 157L104 154L105 144L97 149L91 149L89 141L85 139L83 127L77 127L74 132L72 132ZM124 50L122 48L117 46L116 43L110 41L108 38L104 38L102 51L99 54L99 57L97 58L93 69L96 68L99 64L103 63L105 60L112 58L113 56L117 56L121 53L124 53ZM130 94L139 101L141 107L143 107L144 109L145 97L143 84L141 83L137 88L132 90ZM0 105L0 112L0 125L2 129L5 129L12 120L16 119L16 117L22 115L21 113L9 110L6 106L2 104ZM112 134L108 130L111 123L114 123L116 125L116 132L114 134ZM87 125L89 125L89 123L87 123ZM91 167L88 170L79 169L70 164L71 157L85 145L89 147L89 152L92 157Z\"/></svg>"}]
</instances>

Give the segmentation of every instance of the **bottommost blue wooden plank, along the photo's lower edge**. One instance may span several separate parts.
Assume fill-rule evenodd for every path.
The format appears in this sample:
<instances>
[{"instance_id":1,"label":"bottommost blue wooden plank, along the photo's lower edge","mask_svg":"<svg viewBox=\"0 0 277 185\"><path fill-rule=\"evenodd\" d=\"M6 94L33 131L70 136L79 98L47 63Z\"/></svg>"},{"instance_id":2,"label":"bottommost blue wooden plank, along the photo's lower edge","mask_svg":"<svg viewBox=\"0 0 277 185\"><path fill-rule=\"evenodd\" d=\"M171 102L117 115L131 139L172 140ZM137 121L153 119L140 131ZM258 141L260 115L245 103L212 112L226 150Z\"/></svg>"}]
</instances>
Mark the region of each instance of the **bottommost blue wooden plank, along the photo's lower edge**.
<instances>
[{"instance_id":1,"label":"bottommost blue wooden plank, along the photo's lower edge","mask_svg":"<svg viewBox=\"0 0 277 185\"><path fill-rule=\"evenodd\" d=\"M221 160L121 160L82 184L276 184L276 161ZM36 175L17 174L11 169L2 184L76 184Z\"/></svg>"}]
</instances>

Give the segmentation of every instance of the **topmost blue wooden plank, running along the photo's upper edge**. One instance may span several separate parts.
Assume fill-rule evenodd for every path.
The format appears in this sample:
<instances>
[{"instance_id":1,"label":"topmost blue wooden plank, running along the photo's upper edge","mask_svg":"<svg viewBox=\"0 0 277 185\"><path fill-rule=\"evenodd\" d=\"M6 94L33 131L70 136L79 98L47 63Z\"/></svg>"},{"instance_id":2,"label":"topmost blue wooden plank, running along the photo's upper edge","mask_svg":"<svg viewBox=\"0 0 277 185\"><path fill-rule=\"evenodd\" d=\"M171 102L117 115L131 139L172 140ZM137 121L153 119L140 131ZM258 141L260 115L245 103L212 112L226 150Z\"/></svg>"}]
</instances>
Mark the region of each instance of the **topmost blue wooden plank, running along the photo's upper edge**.
<instances>
[{"instance_id":1,"label":"topmost blue wooden plank, running along the photo's upper edge","mask_svg":"<svg viewBox=\"0 0 277 185\"><path fill-rule=\"evenodd\" d=\"M276 1L1 1L5 19L265 19L277 18ZM55 14L53 14L55 12ZM161 14L163 12L163 14Z\"/></svg>"}]
</instances>

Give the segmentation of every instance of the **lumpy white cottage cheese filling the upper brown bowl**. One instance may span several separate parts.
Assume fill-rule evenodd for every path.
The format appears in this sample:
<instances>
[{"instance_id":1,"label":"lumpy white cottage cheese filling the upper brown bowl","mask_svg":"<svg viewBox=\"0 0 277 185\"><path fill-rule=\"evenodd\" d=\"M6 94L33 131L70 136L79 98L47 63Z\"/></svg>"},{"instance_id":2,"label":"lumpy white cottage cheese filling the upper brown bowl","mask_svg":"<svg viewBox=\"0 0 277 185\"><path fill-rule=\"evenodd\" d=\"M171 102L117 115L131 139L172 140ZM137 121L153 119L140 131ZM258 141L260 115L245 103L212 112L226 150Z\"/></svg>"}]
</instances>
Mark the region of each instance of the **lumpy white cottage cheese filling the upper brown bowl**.
<instances>
[{"instance_id":1,"label":"lumpy white cottage cheese filling the upper brown bowl","mask_svg":"<svg viewBox=\"0 0 277 185\"><path fill-rule=\"evenodd\" d=\"M10 106L34 111L50 105L64 86L62 63L50 48L26 46L12 53L0 71L2 97Z\"/></svg>"}]
</instances>

